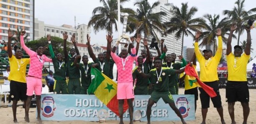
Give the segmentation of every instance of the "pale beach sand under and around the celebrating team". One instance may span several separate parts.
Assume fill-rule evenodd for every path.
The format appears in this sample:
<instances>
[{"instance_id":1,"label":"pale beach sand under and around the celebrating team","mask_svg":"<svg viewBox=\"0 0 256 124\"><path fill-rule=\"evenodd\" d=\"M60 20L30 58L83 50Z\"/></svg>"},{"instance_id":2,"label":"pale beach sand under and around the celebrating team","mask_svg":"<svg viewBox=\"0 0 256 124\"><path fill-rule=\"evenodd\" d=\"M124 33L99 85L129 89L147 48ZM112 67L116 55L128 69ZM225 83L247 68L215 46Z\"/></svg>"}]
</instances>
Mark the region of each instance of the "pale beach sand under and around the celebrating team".
<instances>
[{"instance_id":1,"label":"pale beach sand under and around the celebrating team","mask_svg":"<svg viewBox=\"0 0 256 124\"><path fill-rule=\"evenodd\" d=\"M248 124L253 124L256 122L256 99L254 99L253 94L256 94L256 89L249 89L250 92L250 115L248 117ZM179 89L179 94L184 94L184 88ZM228 103L225 102L225 89L220 89L221 101L223 105L224 111L224 119L226 124L231 124L231 119L228 114ZM18 104L22 104L22 102L18 102ZM0 124L13 124L13 112L11 107L3 106L3 101L0 104ZM167 105L167 104L166 104ZM30 124L38 124L36 120L36 108L30 109ZM19 124L27 124L24 120L25 110L22 106L17 108L17 119ZM240 102L236 102L235 105L235 119L237 124L243 123L243 108ZM201 103L200 98L197 100L197 111L196 111L196 119L195 121L187 121L188 124L200 124L202 122L201 115ZM97 124L99 122L85 122L85 121L43 121L43 124ZM106 124L118 124L119 121L106 121ZM217 110L213 107L212 102L210 102L210 108L208 109L207 124L220 124L220 117ZM125 122L125 124L129 124L129 122ZM133 124L147 124L147 122L134 122ZM179 121L169 121L169 122L151 122L151 124L182 124Z\"/></svg>"}]
</instances>

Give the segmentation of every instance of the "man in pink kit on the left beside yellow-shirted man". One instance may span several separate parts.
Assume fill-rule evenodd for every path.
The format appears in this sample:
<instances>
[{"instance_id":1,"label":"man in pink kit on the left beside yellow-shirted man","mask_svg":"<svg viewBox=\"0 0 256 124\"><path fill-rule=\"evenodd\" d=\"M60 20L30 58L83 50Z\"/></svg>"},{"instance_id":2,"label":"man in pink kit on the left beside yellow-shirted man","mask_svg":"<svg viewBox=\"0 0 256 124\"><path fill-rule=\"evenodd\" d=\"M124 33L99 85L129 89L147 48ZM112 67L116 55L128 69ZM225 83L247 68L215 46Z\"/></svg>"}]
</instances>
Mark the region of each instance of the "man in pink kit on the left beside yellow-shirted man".
<instances>
[{"instance_id":1,"label":"man in pink kit on the left beside yellow-shirted man","mask_svg":"<svg viewBox=\"0 0 256 124\"><path fill-rule=\"evenodd\" d=\"M27 77L27 95L28 99L26 102L26 115L25 121L29 122L29 107L32 99L33 92L36 94L36 108L37 108L37 120L39 123L42 123L40 112L41 112L41 92L42 92L42 69L44 66L44 62L52 62L50 58L44 53L44 47L39 46L36 52L30 50L24 42L23 35L25 35L25 30L22 30L20 33L20 45L26 51L26 53L30 56L30 67L28 69L28 77ZM51 40L51 37L48 35L47 40Z\"/></svg>"}]
</instances>

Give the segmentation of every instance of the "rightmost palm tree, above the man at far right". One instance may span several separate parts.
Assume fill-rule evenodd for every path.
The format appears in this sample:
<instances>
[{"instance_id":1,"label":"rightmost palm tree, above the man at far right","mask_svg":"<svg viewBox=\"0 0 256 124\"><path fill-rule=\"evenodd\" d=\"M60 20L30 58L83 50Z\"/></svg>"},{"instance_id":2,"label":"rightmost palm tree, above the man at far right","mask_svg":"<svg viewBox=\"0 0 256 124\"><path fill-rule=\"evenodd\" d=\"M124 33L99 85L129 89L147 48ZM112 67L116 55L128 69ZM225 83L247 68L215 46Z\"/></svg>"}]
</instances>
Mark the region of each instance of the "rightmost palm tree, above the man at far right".
<instances>
[{"instance_id":1,"label":"rightmost palm tree, above the man at far right","mask_svg":"<svg viewBox=\"0 0 256 124\"><path fill-rule=\"evenodd\" d=\"M239 45L240 35L243 33L244 29L242 28L243 22L248 21L249 19L256 19L256 14L251 15L253 12L256 12L256 8L252 8L249 11L246 11L244 9L244 1L245 0L237 0L233 10L224 10L223 14L228 15L228 17L231 17L230 23L236 23L238 29L236 30L236 33L238 33L238 40L237 45Z\"/></svg>"}]
</instances>

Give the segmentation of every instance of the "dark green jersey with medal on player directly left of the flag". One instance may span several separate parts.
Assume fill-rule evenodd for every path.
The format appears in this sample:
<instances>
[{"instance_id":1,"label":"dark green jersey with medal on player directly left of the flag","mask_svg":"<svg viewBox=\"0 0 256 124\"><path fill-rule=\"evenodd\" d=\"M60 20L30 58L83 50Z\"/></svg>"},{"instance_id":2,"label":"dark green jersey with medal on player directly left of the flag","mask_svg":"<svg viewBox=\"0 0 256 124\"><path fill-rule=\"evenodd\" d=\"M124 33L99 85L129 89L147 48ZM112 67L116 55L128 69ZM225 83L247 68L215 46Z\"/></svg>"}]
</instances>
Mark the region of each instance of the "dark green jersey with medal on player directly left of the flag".
<instances>
[{"instance_id":1,"label":"dark green jersey with medal on player directly left of the flag","mask_svg":"<svg viewBox=\"0 0 256 124\"><path fill-rule=\"evenodd\" d=\"M87 65L84 65L83 63L79 63L79 69L81 71L81 84L83 87L89 87L91 84L91 68L92 63L88 63Z\"/></svg>"}]
</instances>

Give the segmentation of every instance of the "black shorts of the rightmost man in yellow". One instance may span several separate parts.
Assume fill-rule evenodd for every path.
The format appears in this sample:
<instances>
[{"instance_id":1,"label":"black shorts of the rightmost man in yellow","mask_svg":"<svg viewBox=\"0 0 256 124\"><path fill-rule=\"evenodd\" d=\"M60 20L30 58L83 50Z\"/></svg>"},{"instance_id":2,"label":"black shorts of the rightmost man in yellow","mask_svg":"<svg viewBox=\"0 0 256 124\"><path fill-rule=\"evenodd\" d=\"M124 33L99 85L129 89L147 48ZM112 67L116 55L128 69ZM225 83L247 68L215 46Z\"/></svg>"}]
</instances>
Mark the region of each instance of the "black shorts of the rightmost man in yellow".
<instances>
[{"instance_id":1,"label":"black shorts of the rightmost man in yellow","mask_svg":"<svg viewBox=\"0 0 256 124\"><path fill-rule=\"evenodd\" d=\"M247 82L228 81L226 85L226 102L249 102Z\"/></svg>"}]
</instances>

